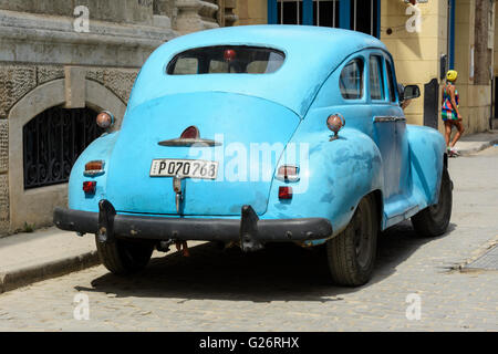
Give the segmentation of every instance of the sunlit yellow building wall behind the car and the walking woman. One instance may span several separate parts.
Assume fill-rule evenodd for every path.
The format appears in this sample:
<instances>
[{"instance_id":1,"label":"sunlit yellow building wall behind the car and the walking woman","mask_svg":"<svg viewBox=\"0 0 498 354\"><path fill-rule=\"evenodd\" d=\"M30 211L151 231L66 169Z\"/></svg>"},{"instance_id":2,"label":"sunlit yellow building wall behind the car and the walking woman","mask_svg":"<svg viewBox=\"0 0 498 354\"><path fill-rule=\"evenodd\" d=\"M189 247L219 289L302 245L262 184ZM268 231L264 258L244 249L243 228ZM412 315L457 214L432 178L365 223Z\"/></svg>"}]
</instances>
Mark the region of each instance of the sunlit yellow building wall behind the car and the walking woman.
<instances>
[{"instance_id":1,"label":"sunlit yellow building wall behind the car and the walking woman","mask_svg":"<svg viewBox=\"0 0 498 354\"><path fill-rule=\"evenodd\" d=\"M465 134L486 131L491 115L489 73L494 69L495 75L498 75L498 65L494 64L498 63L494 60L498 55L494 52L495 24L488 23L489 13L491 19L496 17L494 3L495 1L489 0L456 0L455 69L459 72L457 88L461 97L460 111L466 127ZM447 0L429 0L417 4L422 11L421 32L406 30L406 22L413 15L406 13L409 4L403 0L381 1L381 40L394 56L398 81L403 84L417 84L421 87L422 97L413 101L405 114L409 124L422 125L424 124L425 84L433 79L442 83L440 56L448 55L448 3ZM238 0L238 11L237 24L268 22L267 0ZM476 33L478 33L477 37ZM481 48L480 51L478 51L479 48ZM477 81L470 76L473 50L474 69L480 75ZM440 100L440 94L438 98ZM438 106L440 106L439 103ZM439 110L437 124L443 132L440 107L437 108Z\"/></svg>"}]
</instances>

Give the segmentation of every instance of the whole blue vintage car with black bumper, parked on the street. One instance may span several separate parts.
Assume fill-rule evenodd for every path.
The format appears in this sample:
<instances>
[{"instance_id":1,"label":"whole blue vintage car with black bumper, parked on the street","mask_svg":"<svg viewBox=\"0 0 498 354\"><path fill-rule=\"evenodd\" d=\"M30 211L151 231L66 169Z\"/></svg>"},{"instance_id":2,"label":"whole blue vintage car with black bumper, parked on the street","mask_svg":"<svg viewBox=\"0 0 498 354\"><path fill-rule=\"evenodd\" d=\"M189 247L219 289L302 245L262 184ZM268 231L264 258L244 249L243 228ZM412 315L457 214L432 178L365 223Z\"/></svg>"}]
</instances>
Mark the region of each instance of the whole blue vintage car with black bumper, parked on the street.
<instances>
[{"instance_id":1,"label":"whole blue vintage car with black bumper, parked on the street","mask_svg":"<svg viewBox=\"0 0 498 354\"><path fill-rule=\"evenodd\" d=\"M453 185L442 135L412 126L377 39L317 27L197 32L142 67L121 129L75 163L54 223L94 233L114 273L154 249L206 240L326 250L336 284L369 281L380 231L446 231ZM108 127L112 112L98 115Z\"/></svg>"}]
</instances>

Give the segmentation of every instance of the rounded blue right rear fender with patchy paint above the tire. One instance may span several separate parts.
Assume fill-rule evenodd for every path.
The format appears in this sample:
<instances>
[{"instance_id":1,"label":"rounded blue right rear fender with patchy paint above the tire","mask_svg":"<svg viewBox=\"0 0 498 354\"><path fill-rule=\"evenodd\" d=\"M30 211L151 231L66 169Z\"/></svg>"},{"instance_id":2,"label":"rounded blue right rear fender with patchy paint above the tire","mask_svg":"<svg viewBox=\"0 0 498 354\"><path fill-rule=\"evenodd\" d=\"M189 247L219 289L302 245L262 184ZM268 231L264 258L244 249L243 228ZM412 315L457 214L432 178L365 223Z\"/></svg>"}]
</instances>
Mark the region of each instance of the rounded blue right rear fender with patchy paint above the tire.
<instances>
[{"instance_id":1,"label":"rounded blue right rear fender with patchy paint above the tire","mask_svg":"<svg viewBox=\"0 0 498 354\"><path fill-rule=\"evenodd\" d=\"M305 160L298 155L298 183L273 180L264 218L323 217L331 220L332 236L335 236L347 226L364 196L375 190L382 196L382 157L375 143L360 131L347 127L341 131L339 139L331 142L330 137L330 131L304 133L298 128L291 143L300 146L300 150L308 144L309 158ZM291 145L279 166L288 158ZM291 200L279 200L281 186L292 187Z\"/></svg>"}]
</instances>

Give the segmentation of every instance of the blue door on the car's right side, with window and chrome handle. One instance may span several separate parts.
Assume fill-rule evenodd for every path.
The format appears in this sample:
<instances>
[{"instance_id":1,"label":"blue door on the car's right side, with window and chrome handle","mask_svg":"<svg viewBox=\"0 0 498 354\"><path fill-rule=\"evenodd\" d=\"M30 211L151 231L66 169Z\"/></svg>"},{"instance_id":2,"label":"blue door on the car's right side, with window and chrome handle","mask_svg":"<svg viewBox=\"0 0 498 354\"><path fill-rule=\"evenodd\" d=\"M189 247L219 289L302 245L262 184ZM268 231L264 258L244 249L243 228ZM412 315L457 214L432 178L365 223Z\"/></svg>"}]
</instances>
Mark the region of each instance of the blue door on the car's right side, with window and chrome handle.
<instances>
[{"instance_id":1,"label":"blue door on the car's right side, with window and chrome handle","mask_svg":"<svg viewBox=\"0 0 498 354\"><path fill-rule=\"evenodd\" d=\"M390 66L387 66L390 65ZM391 61L381 51L369 55L369 98L372 105L374 140L381 152L384 170L384 202L403 192L402 166L405 117L397 104ZM391 80L387 77L391 75ZM393 100L394 98L394 100Z\"/></svg>"}]
</instances>

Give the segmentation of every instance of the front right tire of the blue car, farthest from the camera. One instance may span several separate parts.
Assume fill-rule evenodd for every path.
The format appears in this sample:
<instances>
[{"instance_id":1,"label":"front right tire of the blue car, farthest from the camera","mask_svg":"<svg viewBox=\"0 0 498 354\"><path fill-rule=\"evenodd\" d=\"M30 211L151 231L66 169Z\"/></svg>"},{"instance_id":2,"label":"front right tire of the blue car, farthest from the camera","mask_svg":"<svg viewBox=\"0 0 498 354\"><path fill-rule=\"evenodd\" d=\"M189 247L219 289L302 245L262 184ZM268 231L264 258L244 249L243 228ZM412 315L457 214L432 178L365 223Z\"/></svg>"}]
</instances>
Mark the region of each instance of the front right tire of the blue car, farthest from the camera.
<instances>
[{"instance_id":1,"label":"front right tire of the blue car, farthest from the camera","mask_svg":"<svg viewBox=\"0 0 498 354\"><path fill-rule=\"evenodd\" d=\"M421 237L437 237L446 232L452 218L453 183L448 169L443 169L439 200L436 205L418 211L412 217L415 232Z\"/></svg>"}]
</instances>

